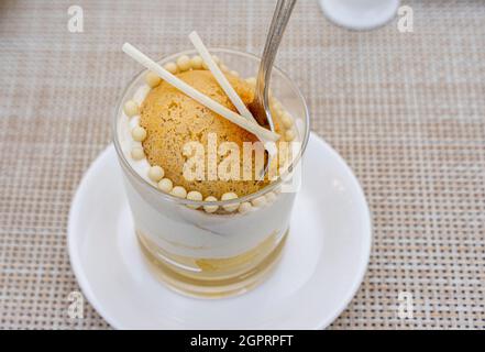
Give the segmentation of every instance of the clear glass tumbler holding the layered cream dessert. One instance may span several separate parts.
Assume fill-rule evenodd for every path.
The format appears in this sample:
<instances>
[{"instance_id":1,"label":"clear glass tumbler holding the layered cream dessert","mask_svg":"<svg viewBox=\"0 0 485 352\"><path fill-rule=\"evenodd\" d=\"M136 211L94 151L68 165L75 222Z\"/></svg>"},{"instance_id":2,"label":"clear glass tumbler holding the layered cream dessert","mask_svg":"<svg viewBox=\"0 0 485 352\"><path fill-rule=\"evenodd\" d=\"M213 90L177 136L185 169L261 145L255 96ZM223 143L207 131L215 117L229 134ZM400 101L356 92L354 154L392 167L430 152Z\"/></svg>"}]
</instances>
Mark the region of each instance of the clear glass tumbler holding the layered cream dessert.
<instances>
[{"instance_id":1,"label":"clear glass tumbler holding the layered cream dessert","mask_svg":"<svg viewBox=\"0 0 485 352\"><path fill-rule=\"evenodd\" d=\"M210 52L242 77L257 73L260 58L254 55L223 48L211 48ZM186 51L158 63L164 65L180 55L196 54ZM285 180L280 177L255 194L206 202L174 197L147 182L130 158L126 143L129 118L123 113L124 102L145 85L145 74L146 70L139 73L128 85L113 119L113 143L134 219L133 235L139 239L150 270L168 287L207 298L245 293L264 280L277 263L288 235L298 187L284 187ZM295 119L300 147L298 155L294 155L290 169L301 169L298 166L309 138L307 105L298 88L277 67L273 68L271 86L273 97ZM260 197L267 199L265 206L246 213L208 213L202 208L192 209L194 206L241 204Z\"/></svg>"}]
</instances>

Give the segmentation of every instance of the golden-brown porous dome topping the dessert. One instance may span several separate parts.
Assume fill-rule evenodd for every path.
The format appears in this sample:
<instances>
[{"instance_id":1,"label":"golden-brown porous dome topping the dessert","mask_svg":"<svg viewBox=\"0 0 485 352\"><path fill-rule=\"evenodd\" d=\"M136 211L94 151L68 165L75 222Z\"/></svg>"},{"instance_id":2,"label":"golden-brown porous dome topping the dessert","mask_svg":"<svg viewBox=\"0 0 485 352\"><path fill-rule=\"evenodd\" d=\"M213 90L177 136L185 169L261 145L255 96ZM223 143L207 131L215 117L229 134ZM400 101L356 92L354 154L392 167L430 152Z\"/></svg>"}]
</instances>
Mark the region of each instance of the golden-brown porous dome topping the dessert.
<instances>
[{"instance_id":1,"label":"golden-brown porous dome topping the dessert","mask_svg":"<svg viewBox=\"0 0 485 352\"><path fill-rule=\"evenodd\" d=\"M177 75L178 78L218 101L236 111L228 96L208 70L189 70ZM228 75L228 80L245 105L254 97L251 86L243 79ZM141 106L140 124L146 130L143 148L152 166L162 166L165 177L188 190L197 190L203 198L214 196L218 199L227 193L239 197L261 189L266 183L257 180L188 180L184 177L184 165L188 157L184 146L189 142L199 142L207 150L209 133L214 133L217 143L234 142L242 155L243 142L257 142L257 138L246 130L220 117L205 106L186 96L166 81L153 88ZM207 152L206 152L207 154ZM219 161L222 157L219 156ZM207 155L206 155L207 169ZM240 161L243 169L242 158Z\"/></svg>"}]
</instances>

